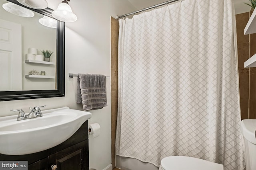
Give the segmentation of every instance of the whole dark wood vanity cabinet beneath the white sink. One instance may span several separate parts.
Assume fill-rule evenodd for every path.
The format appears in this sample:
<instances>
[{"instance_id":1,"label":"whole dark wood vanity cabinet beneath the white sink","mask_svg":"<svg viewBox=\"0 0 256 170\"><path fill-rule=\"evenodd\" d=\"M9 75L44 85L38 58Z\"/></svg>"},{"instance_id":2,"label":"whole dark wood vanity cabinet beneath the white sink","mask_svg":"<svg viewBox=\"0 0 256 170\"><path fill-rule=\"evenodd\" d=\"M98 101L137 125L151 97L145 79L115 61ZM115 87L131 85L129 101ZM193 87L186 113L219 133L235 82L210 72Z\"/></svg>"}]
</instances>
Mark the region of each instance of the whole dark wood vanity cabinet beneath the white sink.
<instances>
[{"instance_id":1,"label":"whole dark wood vanity cabinet beneath the white sink","mask_svg":"<svg viewBox=\"0 0 256 170\"><path fill-rule=\"evenodd\" d=\"M87 120L74 135L56 147L26 155L0 154L0 160L26 160L28 170L89 170L88 149Z\"/></svg>"}]
</instances>

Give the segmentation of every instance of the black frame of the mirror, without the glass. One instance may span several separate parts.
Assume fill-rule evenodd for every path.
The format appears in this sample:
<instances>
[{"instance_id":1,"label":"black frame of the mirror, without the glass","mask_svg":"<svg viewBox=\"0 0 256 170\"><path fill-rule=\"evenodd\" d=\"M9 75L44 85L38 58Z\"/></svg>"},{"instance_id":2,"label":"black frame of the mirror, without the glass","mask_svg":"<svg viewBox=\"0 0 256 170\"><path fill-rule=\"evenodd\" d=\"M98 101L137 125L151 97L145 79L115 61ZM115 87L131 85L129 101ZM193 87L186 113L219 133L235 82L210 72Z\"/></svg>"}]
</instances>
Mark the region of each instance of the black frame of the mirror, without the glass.
<instances>
[{"instance_id":1,"label":"black frame of the mirror, without the glass","mask_svg":"<svg viewBox=\"0 0 256 170\"><path fill-rule=\"evenodd\" d=\"M28 8L16 0L7 0L24 8ZM39 14L52 17L52 9L36 10L28 8ZM54 18L55 19L55 18ZM2 91L0 92L0 101L24 100L35 98L54 98L65 96L65 22L57 20L56 37L56 88L57 90L24 90L24 91Z\"/></svg>"}]
</instances>

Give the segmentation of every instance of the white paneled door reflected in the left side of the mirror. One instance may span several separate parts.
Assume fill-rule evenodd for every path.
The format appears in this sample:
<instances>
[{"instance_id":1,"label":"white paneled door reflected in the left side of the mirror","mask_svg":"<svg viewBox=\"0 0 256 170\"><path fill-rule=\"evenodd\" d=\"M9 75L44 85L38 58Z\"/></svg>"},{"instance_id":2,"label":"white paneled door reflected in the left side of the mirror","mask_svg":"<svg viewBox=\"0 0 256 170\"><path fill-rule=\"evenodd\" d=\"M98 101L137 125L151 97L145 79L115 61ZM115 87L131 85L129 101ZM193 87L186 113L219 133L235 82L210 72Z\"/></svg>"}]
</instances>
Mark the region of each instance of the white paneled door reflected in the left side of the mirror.
<instances>
[{"instance_id":1,"label":"white paneled door reflected in the left side of the mirror","mask_svg":"<svg viewBox=\"0 0 256 170\"><path fill-rule=\"evenodd\" d=\"M22 90L21 25L0 19L0 91Z\"/></svg>"}]
</instances>

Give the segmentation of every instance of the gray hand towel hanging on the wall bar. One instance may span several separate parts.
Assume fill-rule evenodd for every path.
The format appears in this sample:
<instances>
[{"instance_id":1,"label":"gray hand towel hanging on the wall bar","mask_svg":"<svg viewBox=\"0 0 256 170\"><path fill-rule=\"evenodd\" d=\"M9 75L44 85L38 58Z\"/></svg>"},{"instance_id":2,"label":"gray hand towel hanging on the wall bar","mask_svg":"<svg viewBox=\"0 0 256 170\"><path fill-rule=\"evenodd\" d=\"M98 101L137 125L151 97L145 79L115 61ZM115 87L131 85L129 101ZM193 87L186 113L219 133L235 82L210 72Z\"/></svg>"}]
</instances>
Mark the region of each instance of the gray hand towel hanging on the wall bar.
<instances>
[{"instance_id":1,"label":"gray hand towel hanging on the wall bar","mask_svg":"<svg viewBox=\"0 0 256 170\"><path fill-rule=\"evenodd\" d=\"M108 106L106 76L101 74L78 74L76 90L76 102L83 104L84 111Z\"/></svg>"}]
</instances>

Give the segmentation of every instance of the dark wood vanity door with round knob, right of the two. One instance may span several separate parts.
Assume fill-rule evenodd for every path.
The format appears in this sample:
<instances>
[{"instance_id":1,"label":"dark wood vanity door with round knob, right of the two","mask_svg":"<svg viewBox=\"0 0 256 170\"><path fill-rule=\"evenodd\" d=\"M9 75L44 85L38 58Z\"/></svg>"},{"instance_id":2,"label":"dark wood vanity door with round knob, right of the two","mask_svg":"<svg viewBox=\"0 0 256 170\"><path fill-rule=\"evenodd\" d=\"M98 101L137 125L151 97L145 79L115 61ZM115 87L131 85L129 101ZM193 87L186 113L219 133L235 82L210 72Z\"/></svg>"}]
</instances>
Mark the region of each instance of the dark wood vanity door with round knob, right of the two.
<instances>
[{"instance_id":1,"label":"dark wood vanity door with round knob, right of the two","mask_svg":"<svg viewBox=\"0 0 256 170\"><path fill-rule=\"evenodd\" d=\"M88 140L49 156L50 170L88 170ZM87 167L86 167L87 166Z\"/></svg>"}]
</instances>

